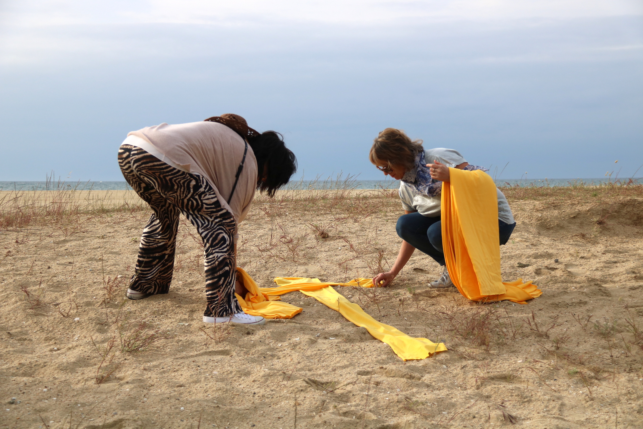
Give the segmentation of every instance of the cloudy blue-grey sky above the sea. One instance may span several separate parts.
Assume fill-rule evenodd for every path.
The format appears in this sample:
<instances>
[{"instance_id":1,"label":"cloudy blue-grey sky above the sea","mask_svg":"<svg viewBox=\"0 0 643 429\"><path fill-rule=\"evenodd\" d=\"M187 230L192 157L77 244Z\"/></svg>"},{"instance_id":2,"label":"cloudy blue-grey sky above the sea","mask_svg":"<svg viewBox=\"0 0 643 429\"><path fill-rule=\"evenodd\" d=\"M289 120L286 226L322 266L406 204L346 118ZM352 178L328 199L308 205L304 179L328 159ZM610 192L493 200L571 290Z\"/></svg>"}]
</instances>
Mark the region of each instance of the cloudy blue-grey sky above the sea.
<instances>
[{"instance_id":1,"label":"cloudy blue-grey sky above the sea","mask_svg":"<svg viewBox=\"0 0 643 429\"><path fill-rule=\"evenodd\" d=\"M0 0L0 181L123 180L127 132L222 113L297 178L383 178L386 127L499 179L624 178L642 77L639 0Z\"/></svg>"}]
</instances>

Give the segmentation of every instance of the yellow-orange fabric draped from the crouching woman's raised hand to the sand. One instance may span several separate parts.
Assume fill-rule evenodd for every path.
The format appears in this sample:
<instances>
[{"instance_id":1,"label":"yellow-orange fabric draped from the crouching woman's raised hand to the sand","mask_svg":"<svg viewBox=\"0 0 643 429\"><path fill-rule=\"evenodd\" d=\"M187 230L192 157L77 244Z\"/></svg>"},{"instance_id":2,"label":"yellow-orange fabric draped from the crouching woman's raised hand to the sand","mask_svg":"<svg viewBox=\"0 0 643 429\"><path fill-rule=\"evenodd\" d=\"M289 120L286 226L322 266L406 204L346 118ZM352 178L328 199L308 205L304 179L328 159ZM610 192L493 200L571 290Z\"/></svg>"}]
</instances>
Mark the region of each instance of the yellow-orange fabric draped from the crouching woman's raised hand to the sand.
<instances>
[{"instance_id":1,"label":"yellow-orange fabric draped from the crouching woman's raised hand to the sand","mask_svg":"<svg viewBox=\"0 0 643 429\"><path fill-rule=\"evenodd\" d=\"M449 169L442 183L442 246L455 287L473 301L527 304L542 291L531 281L503 282L500 276L498 197L482 170Z\"/></svg>"}]
</instances>

